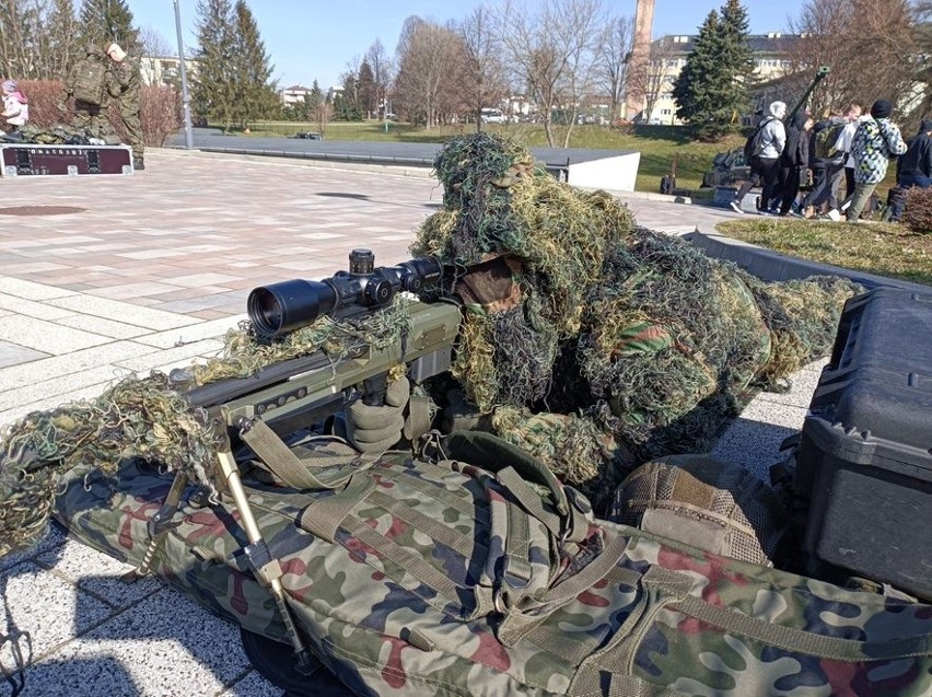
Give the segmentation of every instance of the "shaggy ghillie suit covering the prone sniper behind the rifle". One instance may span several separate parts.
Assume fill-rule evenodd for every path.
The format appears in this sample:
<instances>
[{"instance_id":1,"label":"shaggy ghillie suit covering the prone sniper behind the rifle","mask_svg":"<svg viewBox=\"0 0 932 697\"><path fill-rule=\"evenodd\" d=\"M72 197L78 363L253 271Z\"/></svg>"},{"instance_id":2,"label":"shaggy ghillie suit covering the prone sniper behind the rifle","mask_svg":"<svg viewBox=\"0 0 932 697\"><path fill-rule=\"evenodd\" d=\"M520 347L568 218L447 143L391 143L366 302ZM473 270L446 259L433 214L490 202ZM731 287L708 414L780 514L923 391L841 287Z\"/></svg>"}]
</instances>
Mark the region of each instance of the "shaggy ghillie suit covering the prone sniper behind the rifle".
<instances>
[{"instance_id":1,"label":"shaggy ghillie suit covering the prone sniper behind the rifle","mask_svg":"<svg viewBox=\"0 0 932 697\"><path fill-rule=\"evenodd\" d=\"M454 374L492 428L596 506L633 465L706 451L760 388L828 352L846 279L765 283L638 228L486 133L434 163L444 209L412 246L458 269Z\"/></svg>"}]
</instances>

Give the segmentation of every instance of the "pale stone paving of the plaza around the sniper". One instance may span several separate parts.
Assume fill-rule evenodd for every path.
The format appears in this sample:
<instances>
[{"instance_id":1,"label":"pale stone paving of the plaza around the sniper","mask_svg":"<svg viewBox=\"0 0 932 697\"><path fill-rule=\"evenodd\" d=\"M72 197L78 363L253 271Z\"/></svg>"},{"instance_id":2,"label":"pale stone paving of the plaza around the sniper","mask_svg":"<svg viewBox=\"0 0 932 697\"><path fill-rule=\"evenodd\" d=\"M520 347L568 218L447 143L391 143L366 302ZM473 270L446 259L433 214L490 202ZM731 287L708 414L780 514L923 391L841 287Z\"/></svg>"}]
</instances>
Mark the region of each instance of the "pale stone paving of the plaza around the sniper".
<instances>
[{"instance_id":1,"label":"pale stone paving of the plaza around the sniper","mask_svg":"<svg viewBox=\"0 0 932 697\"><path fill-rule=\"evenodd\" d=\"M442 199L424 171L165 150L147 162L133 176L0 181L0 423L214 355L255 286L329 276L353 247L380 265L408 258ZM733 217L625 200L640 224L671 234ZM10 214L43 206L79 210ZM717 453L765 476L817 377L813 365L791 393L758 397ZM0 632L33 641L26 696L280 694L249 666L235 627L152 579L125 584L126 570L60 528L0 561ZM9 647L0 660L11 665Z\"/></svg>"}]
</instances>

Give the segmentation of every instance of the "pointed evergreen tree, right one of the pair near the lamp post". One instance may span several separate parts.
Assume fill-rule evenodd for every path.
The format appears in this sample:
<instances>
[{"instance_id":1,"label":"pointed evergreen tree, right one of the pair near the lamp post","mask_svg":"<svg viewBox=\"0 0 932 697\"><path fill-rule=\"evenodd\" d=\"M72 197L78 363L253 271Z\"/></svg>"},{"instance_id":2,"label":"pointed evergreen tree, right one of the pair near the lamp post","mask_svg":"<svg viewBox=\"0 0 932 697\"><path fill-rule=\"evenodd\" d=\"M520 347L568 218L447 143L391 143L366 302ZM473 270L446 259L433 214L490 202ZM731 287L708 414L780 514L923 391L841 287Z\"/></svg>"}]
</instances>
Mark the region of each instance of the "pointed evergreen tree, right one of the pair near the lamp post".
<instances>
[{"instance_id":1,"label":"pointed evergreen tree, right one of the pair near the lamp post","mask_svg":"<svg viewBox=\"0 0 932 697\"><path fill-rule=\"evenodd\" d=\"M233 8L235 49L233 68L233 114L238 126L270 116L278 106L276 85L269 83L272 67L259 27L245 0Z\"/></svg>"}]
</instances>

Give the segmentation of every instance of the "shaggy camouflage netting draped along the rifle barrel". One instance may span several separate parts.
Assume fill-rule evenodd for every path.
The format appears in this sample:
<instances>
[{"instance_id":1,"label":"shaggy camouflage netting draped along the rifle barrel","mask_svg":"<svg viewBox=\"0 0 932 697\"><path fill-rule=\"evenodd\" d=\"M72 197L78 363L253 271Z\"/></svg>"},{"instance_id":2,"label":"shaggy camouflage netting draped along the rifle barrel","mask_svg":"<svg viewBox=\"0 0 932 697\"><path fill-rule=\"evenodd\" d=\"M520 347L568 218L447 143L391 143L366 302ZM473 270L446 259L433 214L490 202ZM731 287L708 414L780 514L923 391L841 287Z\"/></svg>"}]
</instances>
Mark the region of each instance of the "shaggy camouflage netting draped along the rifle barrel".
<instances>
[{"instance_id":1,"label":"shaggy camouflage netting draped along the rifle barrel","mask_svg":"<svg viewBox=\"0 0 932 697\"><path fill-rule=\"evenodd\" d=\"M79 464L113 474L120 461L141 457L185 472L212 487L215 433L202 409L182 391L225 377L252 375L267 365L324 350L338 361L360 345L385 348L410 329L409 299L361 320L321 317L271 344L258 341L248 323L228 333L218 358L172 380L154 372L126 377L95 399L34 411L0 430L0 557L34 544L46 530L61 474Z\"/></svg>"}]
</instances>

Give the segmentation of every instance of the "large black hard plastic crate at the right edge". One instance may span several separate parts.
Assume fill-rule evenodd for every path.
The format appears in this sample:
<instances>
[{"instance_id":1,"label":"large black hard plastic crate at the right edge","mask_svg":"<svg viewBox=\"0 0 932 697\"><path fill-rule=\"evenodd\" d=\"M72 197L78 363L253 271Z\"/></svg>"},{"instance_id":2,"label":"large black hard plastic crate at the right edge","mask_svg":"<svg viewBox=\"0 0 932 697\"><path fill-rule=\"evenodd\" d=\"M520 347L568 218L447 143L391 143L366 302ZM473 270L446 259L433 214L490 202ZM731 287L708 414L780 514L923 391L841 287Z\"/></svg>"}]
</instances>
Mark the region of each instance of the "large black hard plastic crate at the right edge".
<instances>
[{"instance_id":1,"label":"large black hard plastic crate at the right edge","mask_svg":"<svg viewBox=\"0 0 932 697\"><path fill-rule=\"evenodd\" d=\"M795 460L806 549L932 599L932 292L848 301Z\"/></svg>"}]
</instances>

